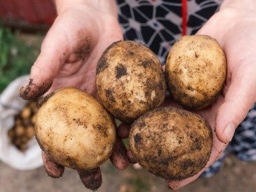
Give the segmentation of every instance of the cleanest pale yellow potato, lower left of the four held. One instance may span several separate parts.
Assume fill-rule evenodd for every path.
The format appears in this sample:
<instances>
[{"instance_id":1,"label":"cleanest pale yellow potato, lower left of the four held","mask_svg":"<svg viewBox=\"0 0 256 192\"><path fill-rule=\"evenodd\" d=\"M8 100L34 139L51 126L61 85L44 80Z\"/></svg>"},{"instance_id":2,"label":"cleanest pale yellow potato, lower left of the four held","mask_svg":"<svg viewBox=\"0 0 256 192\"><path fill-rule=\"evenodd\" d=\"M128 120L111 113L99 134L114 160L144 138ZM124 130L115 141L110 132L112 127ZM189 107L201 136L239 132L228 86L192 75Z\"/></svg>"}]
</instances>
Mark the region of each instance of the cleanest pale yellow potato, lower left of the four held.
<instances>
[{"instance_id":1,"label":"cleanest pale yellow potato, lower left of the four held","mask_svg":"<svg viewBox=\"0 0 256 192\"><path fill-rule=\"evenodd\" d=\"M111 155L115 125L99 102L77 88L56 90L41 103L35 134L51 159L69 168L92 170Z\"/></svg>"}]
</instances>

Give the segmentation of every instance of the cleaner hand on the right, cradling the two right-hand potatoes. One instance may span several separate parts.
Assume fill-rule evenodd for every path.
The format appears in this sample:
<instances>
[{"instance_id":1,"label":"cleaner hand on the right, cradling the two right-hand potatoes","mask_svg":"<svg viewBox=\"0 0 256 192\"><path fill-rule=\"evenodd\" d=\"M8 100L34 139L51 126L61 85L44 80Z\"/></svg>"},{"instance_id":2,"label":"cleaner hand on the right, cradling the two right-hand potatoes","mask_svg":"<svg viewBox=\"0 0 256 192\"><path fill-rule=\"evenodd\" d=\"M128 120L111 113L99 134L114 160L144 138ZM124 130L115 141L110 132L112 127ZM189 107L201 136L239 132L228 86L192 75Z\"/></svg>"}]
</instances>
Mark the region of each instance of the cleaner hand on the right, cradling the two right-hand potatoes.
<instances>
[{"instance_id":1,"label":"cleaner hand on the right, cradling the two right-hand potatoes","mask_svg":"<svg viewBox=\"0 0 256 192\"><path fill-rule=\"evenodd\" d=\"M218 99L207 109L193 111L206 118L214 130L212 154L204 170L220 158L237 125L256 101L255 11L256 3L253 1L225 1L220 12L198 31L198 34L210 35L218 40L228 65L227 80ZM172 189L182 188L204 170L185 180L167 180L167 185Z\"/></svg>"}]
</instances>

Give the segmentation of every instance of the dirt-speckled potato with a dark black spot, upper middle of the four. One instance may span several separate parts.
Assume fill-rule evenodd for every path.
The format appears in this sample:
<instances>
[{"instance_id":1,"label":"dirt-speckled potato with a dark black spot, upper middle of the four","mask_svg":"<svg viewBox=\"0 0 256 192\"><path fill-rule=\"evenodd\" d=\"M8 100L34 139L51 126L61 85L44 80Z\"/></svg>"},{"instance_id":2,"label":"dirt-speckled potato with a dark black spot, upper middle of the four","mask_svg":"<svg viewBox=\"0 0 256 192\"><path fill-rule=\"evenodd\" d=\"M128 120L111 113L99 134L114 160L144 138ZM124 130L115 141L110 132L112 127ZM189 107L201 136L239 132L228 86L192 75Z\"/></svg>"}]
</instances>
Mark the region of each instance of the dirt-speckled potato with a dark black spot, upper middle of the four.
<instances>
[{"instance_id":1,"label":"dirt-speckled potato with a dark black spot, upper middle of the four","mask_svg":"<svg viewBox=\"0 0 256 192\"><path fill-rule=\"evenodd\" d=\"M102 105L127 124L163 104L166 83L161 63L143 44L120 41L102 54L96 69Z\"/></svg>"}]
</instances>

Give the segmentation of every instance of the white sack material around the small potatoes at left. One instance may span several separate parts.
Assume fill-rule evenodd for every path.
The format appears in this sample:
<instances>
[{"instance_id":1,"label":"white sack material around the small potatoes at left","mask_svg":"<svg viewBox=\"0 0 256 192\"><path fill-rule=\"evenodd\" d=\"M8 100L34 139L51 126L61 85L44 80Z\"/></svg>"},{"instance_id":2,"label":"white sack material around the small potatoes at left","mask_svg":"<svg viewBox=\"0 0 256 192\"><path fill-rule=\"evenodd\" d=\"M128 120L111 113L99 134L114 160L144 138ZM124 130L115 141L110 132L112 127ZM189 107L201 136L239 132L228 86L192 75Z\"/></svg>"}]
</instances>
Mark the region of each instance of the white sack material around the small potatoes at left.
<instances>
[{"instance_id":1,"label":"white sack material around the small potatoes at left","mask_svg":"<svg viewBox=\"0 0 256 192\"><path fill-rule=\"evenodd\" d=\"M29 141L25 152L20 152L8 138L8 130L15 124L14 116L28 103L20 98L20 88L28 78L22 76L15 79L0 95L0 160L18 170L31 170L43 164L35 136Z\"/></svg>"}]
</instances>

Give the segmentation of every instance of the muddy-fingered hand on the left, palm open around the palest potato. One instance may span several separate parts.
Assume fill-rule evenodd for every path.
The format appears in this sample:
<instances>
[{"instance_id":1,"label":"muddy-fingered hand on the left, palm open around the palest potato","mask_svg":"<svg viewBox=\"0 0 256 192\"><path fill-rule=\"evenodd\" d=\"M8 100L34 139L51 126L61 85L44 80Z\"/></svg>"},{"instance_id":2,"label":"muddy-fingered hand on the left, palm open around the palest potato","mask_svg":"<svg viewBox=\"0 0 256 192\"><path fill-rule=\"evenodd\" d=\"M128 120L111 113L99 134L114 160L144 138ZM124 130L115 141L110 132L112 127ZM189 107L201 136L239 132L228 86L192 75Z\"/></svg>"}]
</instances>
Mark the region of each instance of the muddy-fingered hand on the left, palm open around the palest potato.
<instances>
[{"instance_id":1,"label":"muddy-fingered hand on the left, palm open around the palest potato","mask_svg":"<svg viewBox=\"0 0 256 192\"><path fill-rule=\"evenodd\" d=\"M60 3L58 17L45 36L29 82L20 90L23 99L35 99L62 86L75 86L97 97L97 61L111 43L123 38L115 4L109 2L93 4L89 1L88 5L69 1L66 9ZM70 6L70 3L74 4ZM48 175L61 177L64 167L54 163L44 152L42 157ZM120 170L129 165L126 148L119 138L110 159ZM100 168L77 172L86 188L100 187Z\"/></svg>"}]
</instances>

